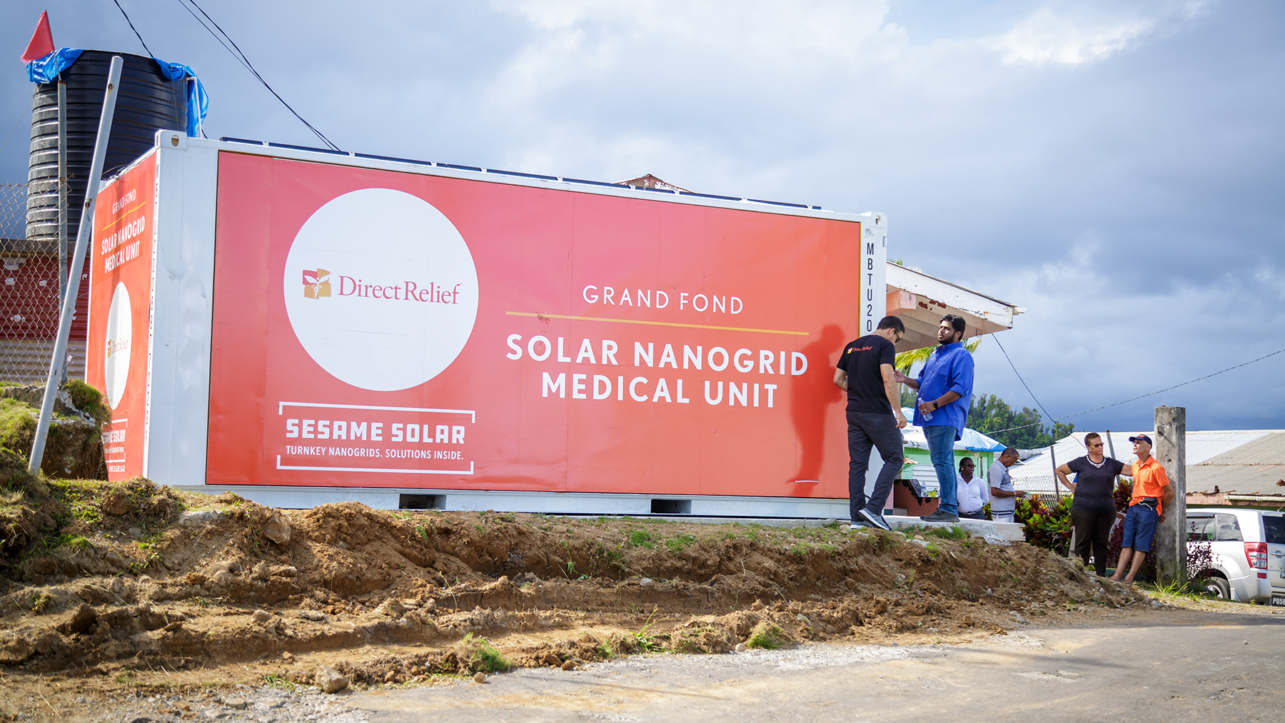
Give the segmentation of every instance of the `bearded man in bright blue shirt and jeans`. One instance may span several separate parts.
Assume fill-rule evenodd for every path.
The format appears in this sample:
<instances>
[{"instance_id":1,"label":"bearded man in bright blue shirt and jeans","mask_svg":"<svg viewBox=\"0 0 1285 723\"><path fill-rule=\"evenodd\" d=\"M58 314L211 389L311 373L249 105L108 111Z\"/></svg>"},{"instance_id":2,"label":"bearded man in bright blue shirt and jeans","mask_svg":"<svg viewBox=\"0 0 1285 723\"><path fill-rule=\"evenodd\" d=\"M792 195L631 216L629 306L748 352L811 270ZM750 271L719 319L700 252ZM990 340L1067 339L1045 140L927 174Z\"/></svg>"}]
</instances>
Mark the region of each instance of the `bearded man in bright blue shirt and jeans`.
<instances>
[{"instance_id":1,"label":"bearded man in bright blue shirt and jeans","mask_svg":"<svg viewBox=\"0 0 1285 723\"><path fill-rule=\"evenodd\" d=\"M973 354L964 348L964 317L947 313L937 327L937 351L919 371L919 379L897 372L898 383L919 390L915 425L928 438L928 456L937 470L941 503L925 523L957 523L955 500L955 442L964 435L968 407L973 401Z\"/></svg>"}]
</instances>

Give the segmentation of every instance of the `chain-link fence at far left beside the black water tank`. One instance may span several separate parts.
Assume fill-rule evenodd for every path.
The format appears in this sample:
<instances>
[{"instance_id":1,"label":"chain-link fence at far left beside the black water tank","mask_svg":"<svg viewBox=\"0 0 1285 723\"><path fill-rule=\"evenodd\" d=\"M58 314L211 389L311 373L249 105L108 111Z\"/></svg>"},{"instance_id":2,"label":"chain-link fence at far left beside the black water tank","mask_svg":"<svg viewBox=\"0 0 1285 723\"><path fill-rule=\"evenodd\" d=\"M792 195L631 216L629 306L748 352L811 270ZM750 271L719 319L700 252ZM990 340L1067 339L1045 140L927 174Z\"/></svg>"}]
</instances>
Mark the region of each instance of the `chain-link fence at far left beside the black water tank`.
<instances>
[{"instance_id":1,"label":"chain-link fence at far left beside the black water tank","mask_svg":"<svg viewBox=\"0 0 1285 723\"><path fill-rule=\"evenodd\" d=\"M40 194L58 193L58 180L35 181ZM27 239L28 184L0 184L0 381L44 381L58 334L58 241ZM80 209L68 209L68 214ZM75 239L67 245L75 248ZM67 376L85 378L89 268L81 275L68 338Z\"/></svg>"}]
</instances>

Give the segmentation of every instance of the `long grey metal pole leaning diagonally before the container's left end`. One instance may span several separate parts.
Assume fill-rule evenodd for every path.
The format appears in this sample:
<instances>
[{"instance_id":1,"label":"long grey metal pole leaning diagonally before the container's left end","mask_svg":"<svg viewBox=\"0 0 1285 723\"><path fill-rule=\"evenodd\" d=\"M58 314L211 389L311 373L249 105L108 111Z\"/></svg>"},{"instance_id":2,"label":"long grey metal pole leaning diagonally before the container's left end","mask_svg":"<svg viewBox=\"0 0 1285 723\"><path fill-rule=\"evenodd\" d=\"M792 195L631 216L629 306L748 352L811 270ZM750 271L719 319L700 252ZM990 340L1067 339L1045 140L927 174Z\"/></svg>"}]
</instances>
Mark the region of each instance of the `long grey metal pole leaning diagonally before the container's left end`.
<instances>
[{"instance_id":1,"label":"long grey metal pole leaning diagonally before the container's left end","mask_svg":"<svg viewBox=\"0 0 1285 723\"><path fill-rule=\"evenodd\" d=\"M94 161L89 167L85 187L85 207L81 209L81 223L76 231L76 250L71 258L67 275L67 295L63 312L58 318L58 338L54 340L54 357L49 361L49 379L45 381L45 398L40 402L40 421L36 422L36 438L31 443L31 460L27 471L40 471L45 457L45 437L49 434L49 420L54 416L54 398L58 396L58 378L67 356L67 335L72 330L72 315L76 313L76 297L80 294L80 276L85 267L85 254L94 234L94 203L98 202L98 187L103 184L103 161L107 158L107 144L112 136L112 116L116 113L116 91L121 85L121 68L125 60L112 57L112 68L107 73L107 94L103 98L103 116L98 121L98 137L94 140Z\"/></svg>"}]
</instances>

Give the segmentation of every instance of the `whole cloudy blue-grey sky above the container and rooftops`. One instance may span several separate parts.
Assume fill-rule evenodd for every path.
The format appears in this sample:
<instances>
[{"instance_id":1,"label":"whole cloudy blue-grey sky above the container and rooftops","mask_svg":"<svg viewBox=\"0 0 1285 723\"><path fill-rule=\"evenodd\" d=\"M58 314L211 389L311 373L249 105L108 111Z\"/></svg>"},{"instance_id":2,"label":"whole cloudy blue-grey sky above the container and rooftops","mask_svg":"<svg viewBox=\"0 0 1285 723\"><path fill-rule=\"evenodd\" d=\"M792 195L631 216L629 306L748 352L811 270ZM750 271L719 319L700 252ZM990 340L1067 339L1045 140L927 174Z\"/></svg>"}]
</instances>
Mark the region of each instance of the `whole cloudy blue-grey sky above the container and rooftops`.
<instances>
[{"instance_id":1,"label":"whole cloudy blue-grey sky above the container and rooftops","mask_svg":"<svg viewBox=\"0 0 1285 723\"><path fill-rule=\"evenodd\" d=\"M198 0L344 150L889 214L889 256L1023 306L1054 416L1285 348L1285 5ZM121 0L211 137L320 145L180 0ZM0 6L0 182L26 180L40 12L143 53L112 0ZM1033 406L996 340L977 392ZM1285 354L1069 419L1285 428Z\"/></svg>"}]
</instances>

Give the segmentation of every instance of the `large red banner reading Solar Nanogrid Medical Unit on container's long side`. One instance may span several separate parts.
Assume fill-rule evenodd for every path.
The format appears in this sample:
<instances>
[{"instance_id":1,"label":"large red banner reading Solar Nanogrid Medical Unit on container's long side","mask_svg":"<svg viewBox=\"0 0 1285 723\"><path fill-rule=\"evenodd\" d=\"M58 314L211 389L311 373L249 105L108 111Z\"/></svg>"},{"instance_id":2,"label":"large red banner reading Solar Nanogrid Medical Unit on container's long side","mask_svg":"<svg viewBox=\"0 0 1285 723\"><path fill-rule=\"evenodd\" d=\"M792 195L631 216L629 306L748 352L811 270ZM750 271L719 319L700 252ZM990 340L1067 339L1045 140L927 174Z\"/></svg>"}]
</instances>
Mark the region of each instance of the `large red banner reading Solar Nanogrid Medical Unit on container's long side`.
<instances>
[{"instance_id":1,"label":"large red banner reading Solar Nanogrid Medical Unit on container's long side","mask_svg":"<svg viewBox=\"0 0 1285 723\"><path fill-rule=\"evenodd\" d=\"M206 482L846 497L860 231L222 153Z\"/></svg>"}]
</instances>

